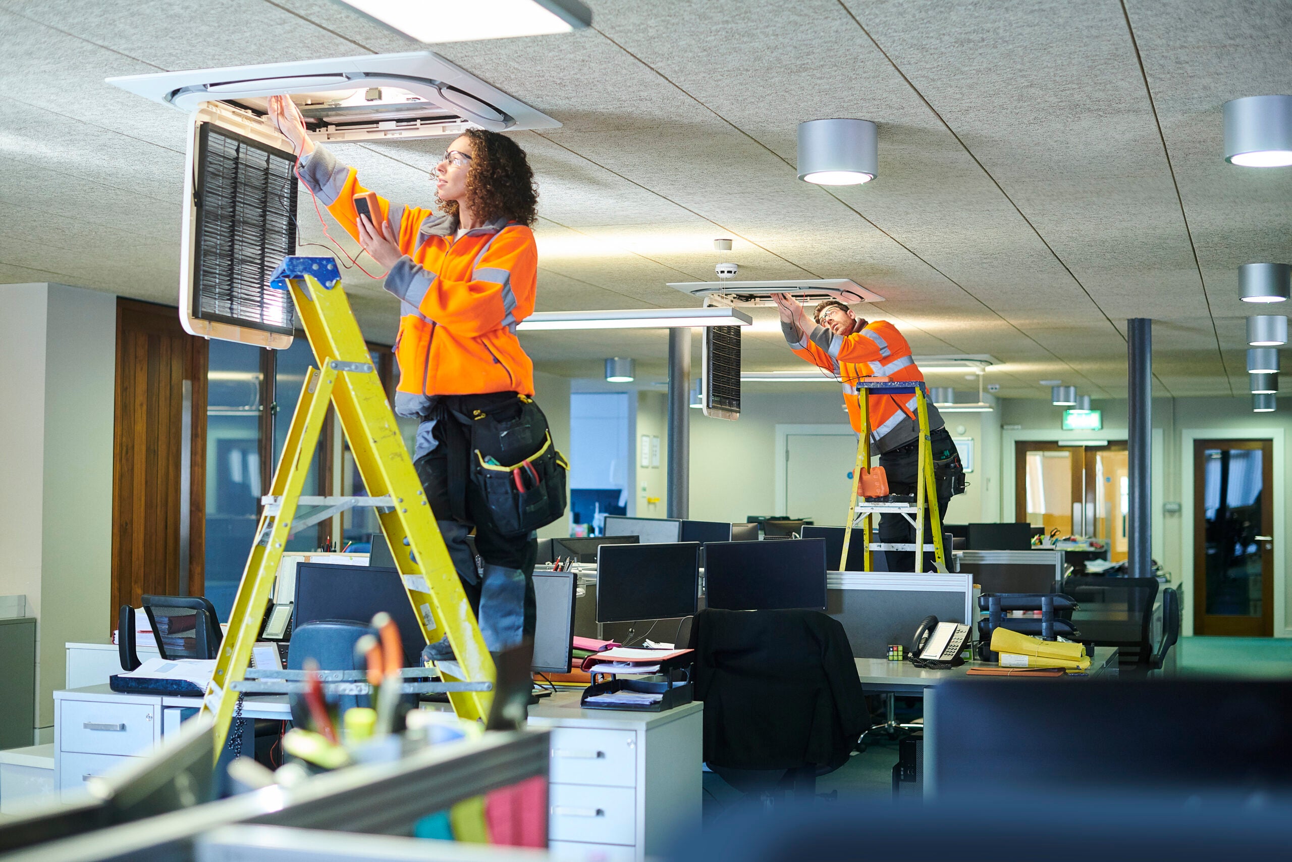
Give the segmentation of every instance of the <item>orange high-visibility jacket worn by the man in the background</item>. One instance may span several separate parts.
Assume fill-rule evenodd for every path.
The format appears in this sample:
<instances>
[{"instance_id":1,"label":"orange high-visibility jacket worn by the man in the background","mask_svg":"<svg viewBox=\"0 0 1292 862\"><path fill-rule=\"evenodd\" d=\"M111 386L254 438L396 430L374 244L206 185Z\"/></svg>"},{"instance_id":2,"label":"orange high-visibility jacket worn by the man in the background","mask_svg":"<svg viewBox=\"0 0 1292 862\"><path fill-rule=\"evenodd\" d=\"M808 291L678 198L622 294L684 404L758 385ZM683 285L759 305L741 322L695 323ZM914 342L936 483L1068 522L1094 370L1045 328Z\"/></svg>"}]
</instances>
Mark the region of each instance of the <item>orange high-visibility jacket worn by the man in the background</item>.
<instances>
[{"instance_id":1,"label":"orange high-visibility jacket worn by the man in the background","mask_svg":"<svg viewBox=\"0 0 1292 862\"><path fill-rule=\"evenodd\" d=\"M857 385L862 377L891 377L894 381L924 380L911 357L911 345L888 321L876 321L864 330L837 336L823 326L800 332L793 323L782 323L789 349L818 368L829 371L844 384L844 403L853 430L862 433L862 408ZM906 410L902 410L906 407ZM929 430L942 428L942 415L928 402ZM871 441L884 454L919 439L915 395L871 394ZM908 415L910 414L910 415Z\"/></svg>"}]
</instances>

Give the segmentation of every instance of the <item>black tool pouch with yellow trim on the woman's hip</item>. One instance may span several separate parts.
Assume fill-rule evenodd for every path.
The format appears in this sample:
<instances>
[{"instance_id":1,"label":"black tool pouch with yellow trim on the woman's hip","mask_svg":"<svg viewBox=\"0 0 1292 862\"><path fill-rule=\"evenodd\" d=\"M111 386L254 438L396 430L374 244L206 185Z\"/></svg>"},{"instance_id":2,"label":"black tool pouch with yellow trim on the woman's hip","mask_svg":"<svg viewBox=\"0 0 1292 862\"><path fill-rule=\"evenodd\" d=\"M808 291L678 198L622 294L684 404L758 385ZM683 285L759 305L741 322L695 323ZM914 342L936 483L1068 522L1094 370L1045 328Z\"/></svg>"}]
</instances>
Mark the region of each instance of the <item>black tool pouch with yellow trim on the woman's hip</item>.
<instances>
[{"instance_id":1,"label":"black tool pouch with yellow trim on the woman's hip","mask_svg":"<svg viewBox=\"0 0 1292 862\"><path fill-rule=\"evenodd\" d=\"M490 464L473 452L472 482L484 498L494 527L505 536L523 535L565 514L566 463L552 436L530 457L514 464Z\"/></svg>"}]
</instances>

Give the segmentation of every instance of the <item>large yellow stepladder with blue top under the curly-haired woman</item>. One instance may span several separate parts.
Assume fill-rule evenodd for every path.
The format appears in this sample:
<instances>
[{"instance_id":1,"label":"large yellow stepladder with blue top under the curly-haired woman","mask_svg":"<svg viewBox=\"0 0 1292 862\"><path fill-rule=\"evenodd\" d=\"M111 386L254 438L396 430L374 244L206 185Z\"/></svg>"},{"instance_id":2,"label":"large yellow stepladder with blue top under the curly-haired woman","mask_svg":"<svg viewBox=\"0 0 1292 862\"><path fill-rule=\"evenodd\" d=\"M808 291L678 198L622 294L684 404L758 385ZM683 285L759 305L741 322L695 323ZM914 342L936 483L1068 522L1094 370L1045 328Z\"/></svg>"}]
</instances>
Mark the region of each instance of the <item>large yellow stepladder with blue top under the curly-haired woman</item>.
<instances>
[{"instance_id":1,"label":"large yellow stepladder with blue top under the curly-haired woman","mask_svg":"<svg viewBox=\"0 0 1292 862\"><path fill-rule=\"evenodd\" d=\"M377 518L421 633L428 644L447 635L453 647L464 678L444 677L446 681L492 684L495 680L494 659L399 436L394 412L341 287L336 261L287 257L274 270L270 284L291 289L318 367L305 375L301 398L274 470L271 499L261 512L256 544L229 616L229 633L202 702L203 713L212 716L216 724L217 759L238 702L238 693L230 686L243 680L251 663L252 646L260 635L283 545L293 531L301 487L314 460L329 403L336 407L363 485L379 504ZM460 717L483 720L494 694L492 690L451 691L448 697Z\"/></svg>"}]
</instances>

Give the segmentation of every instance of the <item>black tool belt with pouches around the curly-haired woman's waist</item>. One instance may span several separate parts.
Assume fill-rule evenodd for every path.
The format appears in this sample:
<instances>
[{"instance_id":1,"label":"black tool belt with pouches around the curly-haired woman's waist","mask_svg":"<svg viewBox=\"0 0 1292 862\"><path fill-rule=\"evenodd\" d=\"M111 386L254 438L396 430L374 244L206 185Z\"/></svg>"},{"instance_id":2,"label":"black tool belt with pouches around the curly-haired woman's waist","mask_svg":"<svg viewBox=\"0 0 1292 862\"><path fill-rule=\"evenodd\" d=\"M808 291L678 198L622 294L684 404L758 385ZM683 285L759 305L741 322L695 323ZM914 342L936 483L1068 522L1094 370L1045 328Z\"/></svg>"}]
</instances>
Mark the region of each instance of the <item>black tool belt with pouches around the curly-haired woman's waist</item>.
<instances>
[{"instance_id":1,"label":"black tool belt with pouches around the curly-haired woman's waist","mask_svg":"<svg viewBox=\"0 0 1292 862\"><path fill-rule=\"evenodd\" d=\"M443 423L455 518L472 521L468 496L475 518L483 508L504 536L528 534L565 514L570 464L532 398L513 392L442 395L426 417Z\"/></svg>"}]
</instances>

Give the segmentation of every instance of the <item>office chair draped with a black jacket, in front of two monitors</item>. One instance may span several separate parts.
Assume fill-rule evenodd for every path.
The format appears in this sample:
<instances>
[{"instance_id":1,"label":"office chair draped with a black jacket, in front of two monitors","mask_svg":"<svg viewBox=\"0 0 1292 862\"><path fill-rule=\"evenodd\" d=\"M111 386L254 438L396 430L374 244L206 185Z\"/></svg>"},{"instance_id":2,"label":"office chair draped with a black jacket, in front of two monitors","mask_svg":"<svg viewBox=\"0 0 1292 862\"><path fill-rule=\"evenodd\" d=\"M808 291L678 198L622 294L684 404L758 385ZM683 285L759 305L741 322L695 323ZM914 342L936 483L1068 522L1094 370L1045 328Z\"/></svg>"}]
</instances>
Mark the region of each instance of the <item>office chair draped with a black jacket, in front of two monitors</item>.
<instances>
[{"instance_id":1,"label":"office chair draped with a black jacket, in front of two monitors","mask_svg":"<svg viewBox=\"0 0 1292 862\"><path fill-rule=\"evenodd\" d=\"M842 624L814 610L702 610L691 628L704 762L769 801L815 795L871 724Z\"/></svg>"}]
</instances>

